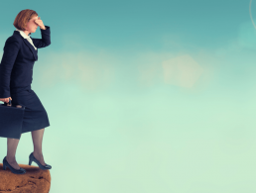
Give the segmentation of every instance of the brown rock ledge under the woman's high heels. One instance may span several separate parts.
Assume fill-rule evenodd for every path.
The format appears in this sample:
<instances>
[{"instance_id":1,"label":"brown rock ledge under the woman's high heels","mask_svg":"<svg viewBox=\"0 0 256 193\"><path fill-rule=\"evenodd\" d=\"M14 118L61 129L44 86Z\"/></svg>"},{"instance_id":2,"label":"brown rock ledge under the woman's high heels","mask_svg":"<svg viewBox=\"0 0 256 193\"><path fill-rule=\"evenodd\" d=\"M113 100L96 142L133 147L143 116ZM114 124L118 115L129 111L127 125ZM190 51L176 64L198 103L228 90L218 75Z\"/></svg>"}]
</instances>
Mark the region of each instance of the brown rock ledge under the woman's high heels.
<instances>
[{"instance_id":1,"label":"brown rock ledge under the woman's high heels","mask_svg":"<svg viewBox=\"0 0 256 193\"><path fill-rule=\"evenodd\" d=\"M19 164L26 169L24 174L15 174L9 167L3 170L0 163L0 193L49 193L51 174L49 169L43 170L38 166Z\"/></svg>"}]
</instances>

